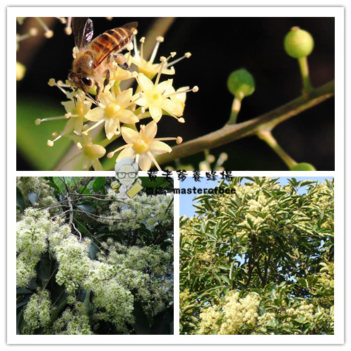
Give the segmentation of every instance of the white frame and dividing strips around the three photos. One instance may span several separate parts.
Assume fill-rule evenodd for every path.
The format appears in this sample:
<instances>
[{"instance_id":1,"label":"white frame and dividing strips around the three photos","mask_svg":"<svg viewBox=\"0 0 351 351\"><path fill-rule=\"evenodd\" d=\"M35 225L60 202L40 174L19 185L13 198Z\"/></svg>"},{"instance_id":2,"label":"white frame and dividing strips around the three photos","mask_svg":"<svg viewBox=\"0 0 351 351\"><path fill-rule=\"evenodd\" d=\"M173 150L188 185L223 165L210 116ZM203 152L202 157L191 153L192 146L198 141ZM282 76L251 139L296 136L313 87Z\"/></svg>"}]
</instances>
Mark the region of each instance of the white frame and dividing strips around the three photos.
<instances>
[{"instance_id":1,"label":"white frame and dividing strips around the three photos","mask_svg":"<svg viewBox=\"0 0 351 351\"><path fill-rule=\"evenodd\" d=\"M205 1L204 1L205 2ZM229 1L227 1L229 2ZM208 1L206 1L208 3ZM223 3L223 1L222 1ZM126 3L127 4L127 3ZM196 4L197 5L197 4ZM86 8L86 7L12 7L7 8L7 71L15 71L16 53L14 35L16 33L16 16L89 16L92 12L94 16L105 15L108 11L109 16L119 16L121 8ZM8 275L7 275L7 343L16 344L336 344L343 343L343 116L344 116L344 9L342 7L304 7L303 11L299 7L186 7L185 11L182 7L133 7L123 8L124 13L130 11L133 16L139 17L157 17L157 16L179 16L179 17L280 17L280 16L296 16L296 17L334 17L335 16L335 172L233 172L235 176L267 176L267 177L311 177L323 175L335 177L335 335L177 335L177 304L179 307L179 253L177 253L177 244L174 247L174 335L16 335L16 319L14 320L15 299L13 287L15 284L14 268L16 267L16 240L13 237L13 228L16 225L16 196L14 190L16 185L16 176L43 176L58 175L57 172L16 172L16 155L15 147L11 145L16 141L16 81L8 79ZM14 162L14 163L13 163ZM59 172L62 176L104 176L111 175L112 172ZM141 174L142 176L143 174ZM204 174L203 174L204 175ZM177 177L174 179L174 187L177 187ZM174 208L178 208L179 198L174 196ZM178 212L178 213L177 213ZM177 234L179 235L179 210L174 210L174 240L177 243ZM178 223L178 227L176 225ZM178 255L178 256L177 256ZM338 269L336 269L338 268ZM179 328L178 328L179 330Z\"/></svg>"}]
</instances>

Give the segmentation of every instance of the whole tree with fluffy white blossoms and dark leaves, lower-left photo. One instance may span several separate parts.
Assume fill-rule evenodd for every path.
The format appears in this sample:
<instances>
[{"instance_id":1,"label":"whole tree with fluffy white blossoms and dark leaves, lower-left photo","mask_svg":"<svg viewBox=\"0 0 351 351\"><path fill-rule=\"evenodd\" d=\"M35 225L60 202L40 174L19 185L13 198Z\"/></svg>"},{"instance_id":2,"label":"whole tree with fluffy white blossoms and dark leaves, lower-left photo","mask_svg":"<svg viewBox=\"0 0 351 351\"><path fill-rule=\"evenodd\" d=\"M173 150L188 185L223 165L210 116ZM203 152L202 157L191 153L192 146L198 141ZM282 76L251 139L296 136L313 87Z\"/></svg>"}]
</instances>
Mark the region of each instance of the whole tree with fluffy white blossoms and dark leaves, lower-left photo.
<instances>
[{"instance_id":1,"label":"whole tree with fluffy white blossoms and dark leaves, lower-left photo","mask_svg":"<svg viewBox=\"0 0 351 351\"><path fill-rule=\"evenodd\" d=\"M18 177L18 333L173 333L173 198L109 180Z\"/></svg>"}]
</instances>

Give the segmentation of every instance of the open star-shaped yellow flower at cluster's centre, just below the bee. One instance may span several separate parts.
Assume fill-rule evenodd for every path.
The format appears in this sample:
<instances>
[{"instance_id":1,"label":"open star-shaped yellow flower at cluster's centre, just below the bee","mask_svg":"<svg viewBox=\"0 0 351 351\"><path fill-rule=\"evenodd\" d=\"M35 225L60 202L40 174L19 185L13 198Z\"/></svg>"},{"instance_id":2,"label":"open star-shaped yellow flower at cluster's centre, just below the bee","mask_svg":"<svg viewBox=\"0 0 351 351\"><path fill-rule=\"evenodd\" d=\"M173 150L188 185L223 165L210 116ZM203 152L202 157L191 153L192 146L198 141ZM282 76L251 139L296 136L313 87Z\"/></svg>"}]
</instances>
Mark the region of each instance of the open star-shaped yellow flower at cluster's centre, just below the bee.
<instances>
[{"instance_id":1,"label":"open star-shaped yellow flower at cluster's centre, just below the bee","mask_svg":"<svg viewBox=\"0 0 351 351\"><path fill-rule=\"evenodd\" d=\"M101 93L99 106L85 115L86 119L97 123L84 133L88 133L88 131L105 122L106 137L111 139L114 135L120 133L121 123L136 124L139 121L138 117L128 109L134 103L131 102L132 95L132 88L124 90L119 95L116 95L114 90Z\"/></svg>"}]
</instances>

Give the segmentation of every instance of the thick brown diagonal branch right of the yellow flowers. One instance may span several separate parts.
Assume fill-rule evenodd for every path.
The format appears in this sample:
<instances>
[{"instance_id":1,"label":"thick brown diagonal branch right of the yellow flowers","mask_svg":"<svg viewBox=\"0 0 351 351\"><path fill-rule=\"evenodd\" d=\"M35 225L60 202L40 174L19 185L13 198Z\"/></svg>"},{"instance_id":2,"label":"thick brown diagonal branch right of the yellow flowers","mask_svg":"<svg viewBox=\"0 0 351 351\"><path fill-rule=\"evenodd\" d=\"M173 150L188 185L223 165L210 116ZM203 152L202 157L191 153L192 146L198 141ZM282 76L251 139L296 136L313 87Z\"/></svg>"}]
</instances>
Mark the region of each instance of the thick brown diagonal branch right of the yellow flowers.
<instances>
[{"instance_id":1,"label":"thick brown diagonal branch right of the yellow flowers","mask_svg":"<svg viewBox=\"0 0 351 351\"><path fill-rule=\"evenodd\" d=\"M273 109L270 112L262 114L259 117L250 119L239 124L225 125L222 129L208 133L182 145L173 148L172 153L159 155L157 162L165 164L175 159L200 153L206 149L217 148L218 146L231 143L232 141L251 136L261 130L272 130L282 121L300 114L301 112L319 105L324 100L335 94L335 81L331 81L314 89L309 95L297 97L297 99L288 102L285 105Z\"/></svg>"}]
</instances>

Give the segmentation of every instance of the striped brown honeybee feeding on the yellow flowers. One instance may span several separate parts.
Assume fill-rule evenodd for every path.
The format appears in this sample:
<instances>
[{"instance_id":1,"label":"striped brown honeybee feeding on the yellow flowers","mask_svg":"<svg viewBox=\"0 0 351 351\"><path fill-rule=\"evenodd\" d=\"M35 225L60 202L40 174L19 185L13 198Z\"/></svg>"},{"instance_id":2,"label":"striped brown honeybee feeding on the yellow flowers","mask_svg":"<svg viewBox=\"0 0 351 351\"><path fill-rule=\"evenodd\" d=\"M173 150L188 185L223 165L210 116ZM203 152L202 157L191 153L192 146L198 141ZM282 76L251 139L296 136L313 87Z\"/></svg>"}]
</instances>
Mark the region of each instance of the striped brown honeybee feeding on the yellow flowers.
<instances>
[{"instance_id":1,"label":"striped brown honeybee feeding on the yellow flowers","mask_svg":"<svg viewBox=\"0 0 351 351\"><path fill-rule=\"evenodd\" d=\"M69 81L88 93L96 85L96 100L100 93L97 79L105 76L104 88L109 83L109 69L113 61L122 69L129 69L121 50L131 40L138 23L126 23L122 27L107 30L93 38L93 21L86 17L73 18L73 35L76 44L76 58L73 60ZM130 69L129 69L130 70Z\"/></svg>"}]
</instances>

